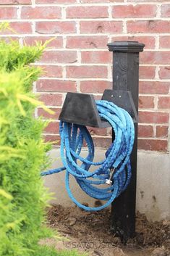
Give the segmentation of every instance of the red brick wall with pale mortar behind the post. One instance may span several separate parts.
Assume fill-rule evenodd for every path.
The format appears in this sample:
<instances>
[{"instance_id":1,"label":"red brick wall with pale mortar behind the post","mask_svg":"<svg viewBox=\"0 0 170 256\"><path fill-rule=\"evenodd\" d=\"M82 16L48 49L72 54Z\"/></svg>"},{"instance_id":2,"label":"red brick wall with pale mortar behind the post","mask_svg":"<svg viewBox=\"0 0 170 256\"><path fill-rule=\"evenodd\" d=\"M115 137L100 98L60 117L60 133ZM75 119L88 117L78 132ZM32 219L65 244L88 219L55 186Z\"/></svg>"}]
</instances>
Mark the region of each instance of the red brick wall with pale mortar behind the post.
<instances>
[{"instance_id":1,"label":"red brick wall with pale mortar behind the post","mask_svg":"<svg viewBox=\"0 0 170 256\"><path fill-rule=\"evenodd\" d=\"M139 149L169 151L170 3L147 0L0 0L0 19L9 20L20 44L56 36L38 64L44 67L35 93L58 117L67 91L95 94L111 87L106 44L144 43L140 54ZM5 37L4 33L2 36ZM38 109L37 115L51 117ZM111 141L109 129L90 129L97 146ZM46 140L59 139L54 120Z\"/></svg>"}]
</instances>

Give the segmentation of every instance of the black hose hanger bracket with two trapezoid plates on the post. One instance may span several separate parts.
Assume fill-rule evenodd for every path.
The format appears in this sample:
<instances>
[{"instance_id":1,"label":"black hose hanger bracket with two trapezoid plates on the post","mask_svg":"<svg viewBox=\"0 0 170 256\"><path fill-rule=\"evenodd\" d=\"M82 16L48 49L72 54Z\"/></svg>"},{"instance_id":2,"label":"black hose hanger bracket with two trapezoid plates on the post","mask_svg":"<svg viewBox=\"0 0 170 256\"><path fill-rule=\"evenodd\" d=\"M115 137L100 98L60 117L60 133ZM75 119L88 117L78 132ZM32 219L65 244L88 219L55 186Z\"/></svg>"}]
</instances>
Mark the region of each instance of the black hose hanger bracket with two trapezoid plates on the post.
<instances>
[{"instance_id":1,"label":"black hose hanger bracket with two trapezoid plates on the post","mask_svg":"<svg viewBox=\"0 0 170 256\"><path fill-rule=\"evenodd\" d=\"M137 111L130 91L105 90L102 100L112 102L118 107L127 110L133 122L137 123ZM109 122L99 116L93 94L68 92L59 115L59 120L96 128L111 126Z\"/></svg>"}]
</instances>

